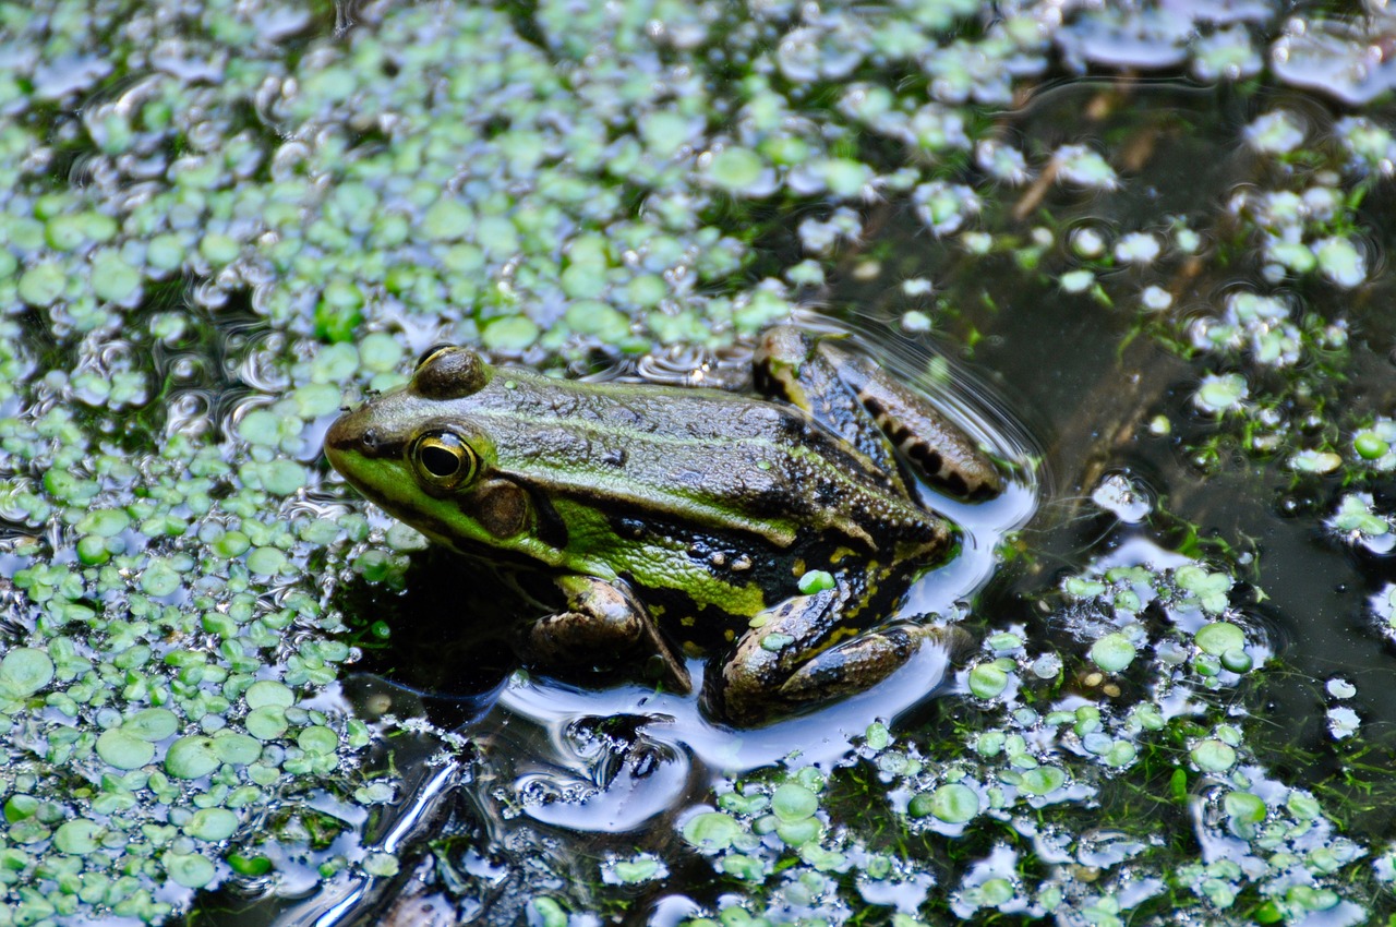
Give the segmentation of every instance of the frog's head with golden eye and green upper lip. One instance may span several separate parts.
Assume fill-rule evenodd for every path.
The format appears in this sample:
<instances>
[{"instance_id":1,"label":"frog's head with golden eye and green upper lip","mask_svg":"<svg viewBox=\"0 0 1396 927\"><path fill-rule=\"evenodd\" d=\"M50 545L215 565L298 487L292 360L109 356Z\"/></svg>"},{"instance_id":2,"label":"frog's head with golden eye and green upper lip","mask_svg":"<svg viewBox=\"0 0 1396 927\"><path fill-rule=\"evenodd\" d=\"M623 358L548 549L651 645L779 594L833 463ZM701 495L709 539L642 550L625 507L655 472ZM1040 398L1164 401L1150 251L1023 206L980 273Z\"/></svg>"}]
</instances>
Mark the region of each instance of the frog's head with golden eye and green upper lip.
<instances>
[{"instance_id":1,"label":"frog's head with golden eye and green upper lip","mask_svg":"<svg viewBox=\"0 0 1396 927\"><path fill-rule=\"evenodd\" d=\"M463 348L426 352L412 380L339 416L325 457L355 489L433 540L511 547L526 494L493 479L494 443L477 415L494 370Z\"/></svg>"}]
</instances>

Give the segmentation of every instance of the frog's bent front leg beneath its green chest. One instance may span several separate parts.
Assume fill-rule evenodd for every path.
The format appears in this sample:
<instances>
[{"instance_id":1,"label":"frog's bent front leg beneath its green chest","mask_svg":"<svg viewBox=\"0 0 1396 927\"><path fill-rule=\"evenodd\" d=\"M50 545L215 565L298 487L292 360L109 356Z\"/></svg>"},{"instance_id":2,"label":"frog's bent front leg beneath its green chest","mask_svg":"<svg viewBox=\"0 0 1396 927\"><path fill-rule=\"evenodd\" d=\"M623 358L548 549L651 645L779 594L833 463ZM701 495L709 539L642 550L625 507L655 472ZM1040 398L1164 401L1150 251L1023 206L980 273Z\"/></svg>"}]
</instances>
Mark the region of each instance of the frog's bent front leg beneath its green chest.
<instances>
[{"instance_id":1,"label":"frog's bent front leg beneath its green chest","mask_svg":"<svg viewBox=\"0 0 1396 927\"><path fill-rule=\"evenodd\" d=\"M655 666L646 676L676 692L692 691L688 669L627 588L593 577L560 577L557 586L568 607L528 625L522 649L529 658L551 666L575 666L611 662L617 655L651 655Z\"/></svg>"}]
</instances>

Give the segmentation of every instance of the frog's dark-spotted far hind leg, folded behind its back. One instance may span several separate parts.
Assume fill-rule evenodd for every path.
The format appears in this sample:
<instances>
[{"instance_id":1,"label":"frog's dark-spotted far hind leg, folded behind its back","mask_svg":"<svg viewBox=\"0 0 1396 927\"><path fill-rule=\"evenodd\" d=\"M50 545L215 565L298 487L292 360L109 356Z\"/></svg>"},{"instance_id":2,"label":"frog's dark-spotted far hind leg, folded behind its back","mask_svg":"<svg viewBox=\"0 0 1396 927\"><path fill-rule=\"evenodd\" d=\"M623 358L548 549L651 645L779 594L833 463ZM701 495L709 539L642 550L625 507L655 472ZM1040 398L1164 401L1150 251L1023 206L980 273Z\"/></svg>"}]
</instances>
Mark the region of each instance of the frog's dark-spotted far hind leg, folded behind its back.
<instances>
[{"instance_id":1,"label":"frog's dark-spotted far hind leg, folded behind its back","mask_svg":"<svg viewBox=\"0 0 1396 927\"><path fill-rule=\"evenodd\" d=\"M920 476L953 496L979 500L1004 491L998 468L958 424L872 360L832 339L815 339L790 325L772 328L757 349L755 376L762 392L804 409L893 479L898 466L891 447Z\"/></svg>"}]
</instances>

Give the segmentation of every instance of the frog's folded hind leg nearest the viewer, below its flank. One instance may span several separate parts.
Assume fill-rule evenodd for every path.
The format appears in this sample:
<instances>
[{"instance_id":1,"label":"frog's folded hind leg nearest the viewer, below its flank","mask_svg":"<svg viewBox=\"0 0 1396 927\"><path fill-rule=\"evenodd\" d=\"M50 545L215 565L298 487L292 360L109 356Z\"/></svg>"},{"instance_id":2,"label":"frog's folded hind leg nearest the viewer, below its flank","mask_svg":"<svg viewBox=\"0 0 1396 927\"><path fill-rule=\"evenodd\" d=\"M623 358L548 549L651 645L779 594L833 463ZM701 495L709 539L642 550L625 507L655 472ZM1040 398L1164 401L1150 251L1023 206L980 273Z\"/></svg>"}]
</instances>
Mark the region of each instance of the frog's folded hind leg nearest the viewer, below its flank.
<instances>
[{"instance_id":1,"label":"frog's folded hind leg nearest the viewer, below its flank","mask_svg":"<svg viewBox=\"0 0 1396 927\"><path fill-rule=\"evenodd\" d=\"M847 599L846 586L825 589L757 616L722 672L704 685L708 711L736 725L757 723L871 688L927 641L948 645L963 635L958 628L898 624L826 646Z\"/></svg>"}]
</instances>

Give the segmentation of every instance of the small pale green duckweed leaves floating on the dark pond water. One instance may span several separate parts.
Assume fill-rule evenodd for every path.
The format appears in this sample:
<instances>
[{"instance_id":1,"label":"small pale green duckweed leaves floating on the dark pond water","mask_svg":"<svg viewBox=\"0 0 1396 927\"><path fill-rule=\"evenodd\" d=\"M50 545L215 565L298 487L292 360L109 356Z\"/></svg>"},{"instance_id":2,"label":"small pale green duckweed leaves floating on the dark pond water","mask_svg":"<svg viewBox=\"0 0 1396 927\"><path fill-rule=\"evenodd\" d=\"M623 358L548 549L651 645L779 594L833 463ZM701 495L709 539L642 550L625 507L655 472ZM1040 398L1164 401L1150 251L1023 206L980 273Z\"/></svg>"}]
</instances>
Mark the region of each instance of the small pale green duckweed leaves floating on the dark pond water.
<instances>
[{"instance_id":1,"label":"small pale green duckweed leaves floating on the dark pond water","mask_svg":"<svg viewBox=\"0 0 1396 927\"><path fill-rule=\"evenodd\" d=\"M1381 553L1390 410L1333 413L1332 374L1347 317L1381 304L1371 204L1386 201L1396 142L1367 114L1328 124L1298 94L1268 102L1325 49L1362 60L1369 36L1263 4L1234 22L1167 4L1000 6L360 4L334 29L314 4L4 7L0 35L20 49L0 74L4 910L158 921L187 905L155 900L173 898L162 882L264 877L288 856L325 878L395 874L371 847L310 849L334 826L302 803L392 796L328 776L359 776L377 729L306 705L357 659L357 616L327 593L345 577L401 589L422 546L350 512L315 462L345 390L391 388L438 339L554 369L656 342L726 349L797 296L845 292L826 288L849 267L893 267L874 239L886 215L928 233L898 288L902 331L953 336L962 296L997 296L959 278L1009 264L1015 286L1040 274L1082 313L1138 314L1195 377L1198 415L1150 412L1152 436L1205 473L1235 454L1286 462L1332 537ZM155 34L169 42L152 49ZM1129 49L1166 57L1111 60ZM1108 94L1046 138L1009 113L1058 59L1226 82L1245 110L1228 151L1255 162L1254 181L1212 226L1188 211L1117 228L1111 195L1138 193L1149 145L1096 149L1121 135ZM1383 84L1379 68L1326 73L1323 92L1353 105ZM1094 225L1072 233L1057 212L1078 201ZM1251 264L1242 286L1189 276ZM1142 531L1160 525L1150 512ZM1120 923L1157 919L1149 899L1177 887L1177 903L1201 899L1187 916L1361 920L1343 907L1357 852L1282 833L1329 833L1326 806L1237 779L1262 773L1220 705L1242 704L1270 655L1242 574L1198 546L1180 547L1181 567L1068 568L1040 621L990 628L953 711L870 727L828 783L793 758L684 818L685 843L747 892L692 896L716 899L712 923L835 923L884 906L872 884L888 881L913 898L889 913L910 927L948 917L960 884L980 917ZM1368 603L1390 634L1388 593ZM1356 730L1337 711L1335 736ZM1198 796L1199 831L1248 843L1247 866L1174 877L1166 849L1101 846L1062 808L1135 825L1148 815L1117 793L1157 782ZM891 822L860 818L903 800ZM261 836L281 846L232 846L242 820L268 821ZM995 843L1013 847L995 857ZM912 845L944 871L907 859ZM614 871L631 884L658 870L635 857ZM574 902L529 909L586 923Z\"/></svg>"}]
</instances>

